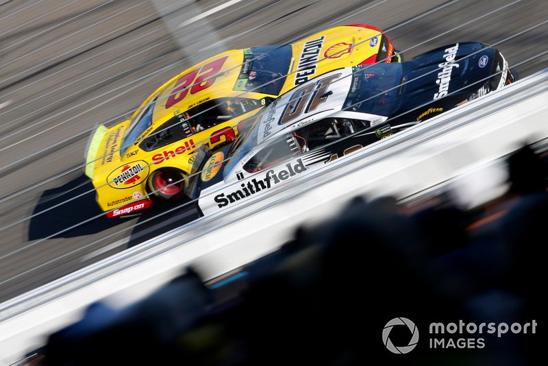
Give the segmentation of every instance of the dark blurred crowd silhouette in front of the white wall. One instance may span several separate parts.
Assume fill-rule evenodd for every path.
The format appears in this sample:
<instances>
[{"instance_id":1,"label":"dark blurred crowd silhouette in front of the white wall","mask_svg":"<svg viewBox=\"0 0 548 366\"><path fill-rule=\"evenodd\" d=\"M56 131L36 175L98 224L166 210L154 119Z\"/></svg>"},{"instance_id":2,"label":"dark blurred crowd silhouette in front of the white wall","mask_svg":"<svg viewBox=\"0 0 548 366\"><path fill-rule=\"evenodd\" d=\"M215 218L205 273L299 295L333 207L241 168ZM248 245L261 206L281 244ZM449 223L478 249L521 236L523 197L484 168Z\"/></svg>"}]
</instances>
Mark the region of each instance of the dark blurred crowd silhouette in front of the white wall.
<instances>
[{"instance_id":1,"label":"dark blurred crowd silhouette in front of the white wall","mask_svg":"<svg viewBox=\"0 0 548 366\"><path fill-rule=\"evenodd\" d=\"M89 306L51 334L43 365L532 365L545 339L547 158L524 145L506 158L508 189L464 207L439 193L405 204L352 199L340 214L299 228L237 276L204 284L188 268L145 300ZM419 342L393 354L390 319L416 324ZM536 332L429 334L462 319L536 321ZM399 329L402 328L402 329ZM531 330L531 328L530 328ZM395 327L390 341L407 345ZM432 347L432 338L473 339ZM479 347L482 342L484 347ZM462 344L462 343L458 343Z\"/></svg>"}]
</instances>

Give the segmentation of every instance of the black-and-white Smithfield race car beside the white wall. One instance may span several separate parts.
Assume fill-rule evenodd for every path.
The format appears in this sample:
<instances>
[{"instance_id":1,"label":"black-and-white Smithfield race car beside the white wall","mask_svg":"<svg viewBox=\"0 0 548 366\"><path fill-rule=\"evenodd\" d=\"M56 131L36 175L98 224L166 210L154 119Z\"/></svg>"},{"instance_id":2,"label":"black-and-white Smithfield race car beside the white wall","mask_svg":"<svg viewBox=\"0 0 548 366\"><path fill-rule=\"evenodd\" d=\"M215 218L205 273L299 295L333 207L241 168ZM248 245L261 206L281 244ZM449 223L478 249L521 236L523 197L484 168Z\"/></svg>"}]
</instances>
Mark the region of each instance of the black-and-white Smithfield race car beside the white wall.
<instances>
[{"instance_id":1,"label":"black-and-white Smithfield race car beside the white wall","mask_svg":"<svg viewBox=\"0 0 548 366\"><path fill-rule=\"evenodd\" d=\"M498 90L514 75L497 49L479 42L325 73L242 121L233 143L199 149L184 193L201 215L234 208Z\"/></svg>"}]
</instances>

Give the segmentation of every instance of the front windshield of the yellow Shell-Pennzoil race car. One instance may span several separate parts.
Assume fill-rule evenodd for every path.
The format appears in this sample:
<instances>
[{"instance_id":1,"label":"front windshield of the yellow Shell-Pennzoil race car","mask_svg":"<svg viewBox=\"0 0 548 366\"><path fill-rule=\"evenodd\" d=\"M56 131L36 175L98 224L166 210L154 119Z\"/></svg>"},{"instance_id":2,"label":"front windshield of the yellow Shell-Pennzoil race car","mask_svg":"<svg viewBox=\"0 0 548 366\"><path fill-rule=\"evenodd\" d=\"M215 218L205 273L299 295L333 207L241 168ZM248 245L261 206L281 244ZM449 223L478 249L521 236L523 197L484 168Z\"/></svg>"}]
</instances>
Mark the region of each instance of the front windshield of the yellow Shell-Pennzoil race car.
<instances>
[{"instance_id":1,"label":"front windshield of the yellow Shell-Pennzoil race car","mask_svg":"<svg viewBox=\"0 0 548 366\"><path fill-rule=\"evenodd\" d=\"M244 63L234 90L279 95L291 62L291 46L253 47L244 50Z\"/></svg>"}]
</instances>

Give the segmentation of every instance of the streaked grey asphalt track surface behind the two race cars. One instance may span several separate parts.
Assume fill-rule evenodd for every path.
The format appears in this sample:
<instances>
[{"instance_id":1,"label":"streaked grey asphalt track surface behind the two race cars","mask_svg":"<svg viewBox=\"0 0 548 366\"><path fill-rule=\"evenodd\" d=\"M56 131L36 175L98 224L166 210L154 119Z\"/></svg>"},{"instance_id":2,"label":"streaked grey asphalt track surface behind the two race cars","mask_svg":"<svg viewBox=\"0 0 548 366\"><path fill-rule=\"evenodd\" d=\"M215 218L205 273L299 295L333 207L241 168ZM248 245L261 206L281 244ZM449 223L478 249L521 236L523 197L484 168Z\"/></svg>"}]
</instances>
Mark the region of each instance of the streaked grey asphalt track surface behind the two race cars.
<instances>
[{"instance_id":1,"label":"streaked grey asphalt track surface behind the two race cars","mask_svg":"<svg viewBox=\"0 0 548 366\"><path fill-rule=\"evenodd\" d=\"M0 302L196 216L102 217L82 173L96 123L220 51L351 23L384 29L404 58L478 40L520 77L548 66L544 0L0 1Z\"/></svg>"}]
</instances>

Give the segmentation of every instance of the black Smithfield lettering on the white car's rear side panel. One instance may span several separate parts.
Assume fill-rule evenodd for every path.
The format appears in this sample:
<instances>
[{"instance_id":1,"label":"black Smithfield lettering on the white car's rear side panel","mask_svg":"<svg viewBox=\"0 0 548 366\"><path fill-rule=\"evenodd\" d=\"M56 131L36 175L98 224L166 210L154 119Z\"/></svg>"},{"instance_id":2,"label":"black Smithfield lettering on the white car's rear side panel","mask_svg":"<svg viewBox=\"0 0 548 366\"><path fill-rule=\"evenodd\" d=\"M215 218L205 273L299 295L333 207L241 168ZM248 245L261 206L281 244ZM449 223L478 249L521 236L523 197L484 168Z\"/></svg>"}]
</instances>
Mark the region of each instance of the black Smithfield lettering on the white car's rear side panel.
<instances>
[{"instance_id":1,"label":"black Smithfield lettering on the white car's rear side panel","mask_svg":"<svg viewBox=\"0 0 548 366\"><path fill-rule=\"evenodd\" d=\"M286 164L286 169L281 169L279 171L271 169L266 172L266 176L263 179L257 180L256 178L253 178L247 182L242 182L240 184L242 188L239 188L231 193L221 193L216 195L214 197L214 201L219 208L223 208L229 204L234 204L234 202L240 201L240 199L245 199L245 197L249 197L260 191L269 189L271 186L278 184L283 180L287 180L297 174L303 173L304 171L306 171L306 167L303 164L303 160L297 159L295 165L291 165L291 163L288 162Z\"/></svg>"}]
</instances>

